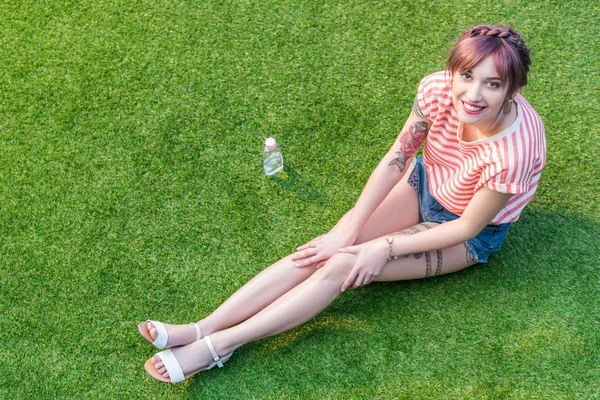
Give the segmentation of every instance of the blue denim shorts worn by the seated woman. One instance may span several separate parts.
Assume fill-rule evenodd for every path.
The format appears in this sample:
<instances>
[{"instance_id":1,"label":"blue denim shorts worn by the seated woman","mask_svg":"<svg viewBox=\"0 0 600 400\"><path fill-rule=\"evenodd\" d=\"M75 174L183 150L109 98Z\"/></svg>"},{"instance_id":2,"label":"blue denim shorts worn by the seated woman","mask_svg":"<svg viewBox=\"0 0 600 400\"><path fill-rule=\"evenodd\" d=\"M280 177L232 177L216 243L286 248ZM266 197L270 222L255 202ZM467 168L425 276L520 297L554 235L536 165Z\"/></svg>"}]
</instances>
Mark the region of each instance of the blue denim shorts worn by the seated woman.
<instances>
[{"instance_id":1,"label":"blue denim shorts worn by the seated woman","mask_svg":"<svg viewBox=\"0 0 600 400\"><path fill-rule=\"evenodd\" d=\"M427 181L423 157L416 158L412 163L412 167L413 170L408 177L408 183L419 196L419 222L443 224L458 219L458 215L446 210L429 192L429 182ZM477 236L467 240L467 248L473 254L475 261L487 262L490 254L500 250L510 225L511 223L487 225Z\"/></svg>"}]
</instances>

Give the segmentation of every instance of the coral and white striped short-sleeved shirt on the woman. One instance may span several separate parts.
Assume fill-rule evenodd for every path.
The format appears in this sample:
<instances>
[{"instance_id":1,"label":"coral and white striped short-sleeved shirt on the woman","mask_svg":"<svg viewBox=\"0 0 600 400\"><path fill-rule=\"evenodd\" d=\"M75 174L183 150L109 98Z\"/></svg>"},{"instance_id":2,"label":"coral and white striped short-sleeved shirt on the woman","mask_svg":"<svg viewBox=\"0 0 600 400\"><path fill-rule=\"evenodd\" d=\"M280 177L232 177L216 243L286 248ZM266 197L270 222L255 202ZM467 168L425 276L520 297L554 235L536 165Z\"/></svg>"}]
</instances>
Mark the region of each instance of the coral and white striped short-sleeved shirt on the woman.
<instances>
[{"instance_id":1,"label":"coral and white striped short-sleeved shirt on the woman","mask_svg":"<svg viewBox=\"0 0 600 400\"><path fill-rule=\"evenodd\" d=\"M544 124L517 94L518 116L511 126L489 138L464 142L450 83L449 74L440 71L423 78L417 92L418 105L432 123L423 149L429 190L456 215L482 186L514 194L491 223L514 222L533 198L546 163Z\"/></svg>"}]
</instances>

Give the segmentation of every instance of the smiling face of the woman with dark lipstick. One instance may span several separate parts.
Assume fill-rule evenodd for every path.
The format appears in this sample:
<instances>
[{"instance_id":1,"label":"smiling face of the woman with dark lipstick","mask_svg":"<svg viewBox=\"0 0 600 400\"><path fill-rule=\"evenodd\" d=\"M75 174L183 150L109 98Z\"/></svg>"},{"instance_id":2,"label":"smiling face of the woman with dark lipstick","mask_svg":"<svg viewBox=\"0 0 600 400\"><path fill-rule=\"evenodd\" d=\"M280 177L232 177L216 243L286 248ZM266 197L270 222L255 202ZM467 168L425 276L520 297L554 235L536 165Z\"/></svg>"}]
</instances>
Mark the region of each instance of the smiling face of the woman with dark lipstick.
<instances>
[{"instance_id":1,"label":"smiling face of the woman with dark lipstick","mask_svg":"<svg viewBox=\"0 0 600 400\"><path fill-rule=\"evenodd\" d=\"M460 120L482 132L489 132L502 123L504 99L508 87L496 72L491 56L468 71L452 76L452 103ZM497 118L497 119L496 119Z\"/></svg>"}]
</instances>

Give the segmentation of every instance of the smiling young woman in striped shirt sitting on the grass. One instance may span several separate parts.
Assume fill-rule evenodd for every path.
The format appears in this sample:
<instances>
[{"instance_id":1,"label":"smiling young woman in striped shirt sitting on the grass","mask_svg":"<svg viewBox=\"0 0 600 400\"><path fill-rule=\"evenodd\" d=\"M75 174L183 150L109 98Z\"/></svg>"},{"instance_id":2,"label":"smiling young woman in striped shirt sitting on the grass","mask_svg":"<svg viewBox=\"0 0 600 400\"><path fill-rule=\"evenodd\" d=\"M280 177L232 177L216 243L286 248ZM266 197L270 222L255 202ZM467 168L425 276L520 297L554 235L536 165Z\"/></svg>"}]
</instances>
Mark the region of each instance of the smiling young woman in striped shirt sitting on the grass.
<instances>
[{"instance_id":1,"label":"smiling young woman in striped shirt sitting on the grass","mask_svg":"<svg viewBox=\"0 0 600 400\"><path fill-rule=\"evenodd\" d=\"M310 320L346 289L486 262L533 198L545 164L543 123L519 93L530 63L513 29L466 31L446 70L421 81L397 142L355 206L197 323L141 322L146 340L169 349L146 371L180 382L222 367L245 343Z\"/></svg>"}]
</instances>

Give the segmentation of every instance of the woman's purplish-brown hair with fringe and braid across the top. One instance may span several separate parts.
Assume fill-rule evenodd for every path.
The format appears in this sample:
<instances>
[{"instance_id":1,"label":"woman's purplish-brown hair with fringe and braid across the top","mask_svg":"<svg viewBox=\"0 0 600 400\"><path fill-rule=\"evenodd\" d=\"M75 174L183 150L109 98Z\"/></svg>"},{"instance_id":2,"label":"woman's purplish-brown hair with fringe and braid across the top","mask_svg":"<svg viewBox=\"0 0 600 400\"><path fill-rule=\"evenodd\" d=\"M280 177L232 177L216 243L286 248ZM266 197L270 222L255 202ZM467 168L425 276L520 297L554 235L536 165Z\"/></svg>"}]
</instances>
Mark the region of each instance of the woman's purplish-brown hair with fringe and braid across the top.
<instances>
[{"instance_id":1,"label":"woman's purplish-brown hair with fringe and braid across the top","mask_svg":"<svg viewBox=\"0 0 600 400\"><path fill-rule=\"evenodd\" d=\"M496 71L508 86L505 101L527 84L531 65L529 49L513 28L504 24L476 25L464 32L450 52L446 69L455 72L468 71L484 58L492 56Z\"/></svg>"}]
</instances>

